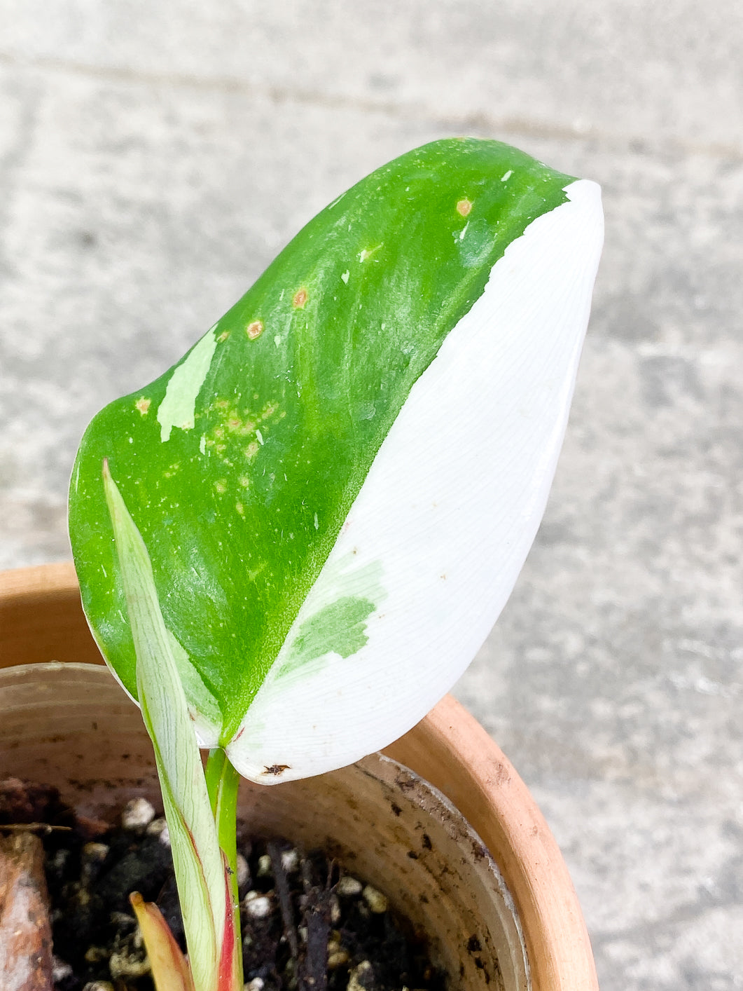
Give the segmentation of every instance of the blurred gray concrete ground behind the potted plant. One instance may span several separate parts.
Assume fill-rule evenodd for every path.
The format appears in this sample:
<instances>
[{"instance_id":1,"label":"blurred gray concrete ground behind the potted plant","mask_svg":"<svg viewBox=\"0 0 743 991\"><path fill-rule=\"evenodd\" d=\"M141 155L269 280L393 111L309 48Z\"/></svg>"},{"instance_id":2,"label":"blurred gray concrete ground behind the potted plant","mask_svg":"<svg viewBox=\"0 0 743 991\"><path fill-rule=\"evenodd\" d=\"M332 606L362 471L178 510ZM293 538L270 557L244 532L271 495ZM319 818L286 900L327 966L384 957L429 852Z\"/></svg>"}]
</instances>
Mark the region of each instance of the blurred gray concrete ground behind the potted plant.
<instances>
[{"instance_id":1,"label":"blurred gray concrete ground behind the potted plant","mask_svg":"<svg viewBox=\"0 0 743 991\"><path fill-rule=\"evenodd\" d=\"M0 566L80 433L320 207L437 137L604 188L553 495L459 685L563 846L604 991L743 987L739 0L0 0Z\"/></svg>"}]
</instances>

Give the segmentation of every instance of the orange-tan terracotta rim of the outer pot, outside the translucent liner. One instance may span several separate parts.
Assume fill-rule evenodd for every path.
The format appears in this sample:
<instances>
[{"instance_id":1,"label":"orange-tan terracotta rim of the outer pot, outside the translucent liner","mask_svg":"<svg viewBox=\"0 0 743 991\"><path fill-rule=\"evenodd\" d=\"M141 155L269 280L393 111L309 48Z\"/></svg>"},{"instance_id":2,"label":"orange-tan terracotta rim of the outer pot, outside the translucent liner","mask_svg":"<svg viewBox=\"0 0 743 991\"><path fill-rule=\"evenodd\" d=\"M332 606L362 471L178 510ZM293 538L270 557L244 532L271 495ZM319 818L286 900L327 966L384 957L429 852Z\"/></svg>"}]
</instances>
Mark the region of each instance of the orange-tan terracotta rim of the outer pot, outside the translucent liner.
<instances>
[{"instance_id":1,"label":"orange-tan terracotta rim of the outer pot, outside the translucent liner","mask_svg":"<svg viewBox=\"0 0 743 991\"><path fill-rule=\"evenodd\" d=\"M41 611L40 611L41 610ZM40 622L41 618L41 622ZM0 572L0 667L83 659L101 664L71 562ZM446 696L383 751L442 792L475 828L510 891L534 991L597 991L583 914L544 817L511 763Z\"/></svg>"}]
</instances>

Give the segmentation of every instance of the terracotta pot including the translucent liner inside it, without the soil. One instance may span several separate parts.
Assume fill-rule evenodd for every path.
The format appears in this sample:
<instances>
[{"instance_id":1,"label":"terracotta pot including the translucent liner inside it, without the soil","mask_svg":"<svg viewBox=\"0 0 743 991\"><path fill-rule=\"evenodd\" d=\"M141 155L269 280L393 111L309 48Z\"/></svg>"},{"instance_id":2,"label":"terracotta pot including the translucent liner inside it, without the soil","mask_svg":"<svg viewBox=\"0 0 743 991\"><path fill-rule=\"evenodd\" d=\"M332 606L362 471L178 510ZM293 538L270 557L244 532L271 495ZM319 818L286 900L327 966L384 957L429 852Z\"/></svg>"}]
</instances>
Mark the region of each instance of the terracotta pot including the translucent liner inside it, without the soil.
<instances>
[{"instance_id":1,"label":"terracotta pot including the translucent liner inside it, without the soil","mask_svg":"<svg viewBox=\"0 0 743 991\"><path fill-rule=\"evenodd\" d=\"M71 565L0 574L0 668L0 774L54 784L89 814L143 792L157 804L139 710L101 665ZM270 788L244 782L240 806L257 833L321 844L385 891L458 987L597 987L555 840L453 699L385 756Z\"/></svg>"}]
</instances>

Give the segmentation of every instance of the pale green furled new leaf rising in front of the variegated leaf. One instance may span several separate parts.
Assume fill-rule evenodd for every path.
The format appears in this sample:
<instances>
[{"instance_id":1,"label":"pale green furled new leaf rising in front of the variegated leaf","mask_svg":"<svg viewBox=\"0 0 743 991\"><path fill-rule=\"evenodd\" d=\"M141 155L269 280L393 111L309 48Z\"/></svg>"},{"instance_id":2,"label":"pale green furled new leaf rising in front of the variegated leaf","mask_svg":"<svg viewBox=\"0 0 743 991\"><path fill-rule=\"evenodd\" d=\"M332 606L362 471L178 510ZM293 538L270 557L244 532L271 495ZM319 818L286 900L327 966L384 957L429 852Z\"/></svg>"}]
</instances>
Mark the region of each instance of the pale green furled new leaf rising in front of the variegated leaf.
<instances>
[{"instance_id":1,"label":"pale green furled new leaf rising in front of the variegated leaf","mask_svg":"<svg viewBox=\"0 0 743 991\"><path fill-rule=\"evenodd\" d=\"M103 484L137 654L137 694L155 747L194 986L196 991L212 991L227 911L217 830L150 555L105 463Z\"/></svg>"}]
</instances>

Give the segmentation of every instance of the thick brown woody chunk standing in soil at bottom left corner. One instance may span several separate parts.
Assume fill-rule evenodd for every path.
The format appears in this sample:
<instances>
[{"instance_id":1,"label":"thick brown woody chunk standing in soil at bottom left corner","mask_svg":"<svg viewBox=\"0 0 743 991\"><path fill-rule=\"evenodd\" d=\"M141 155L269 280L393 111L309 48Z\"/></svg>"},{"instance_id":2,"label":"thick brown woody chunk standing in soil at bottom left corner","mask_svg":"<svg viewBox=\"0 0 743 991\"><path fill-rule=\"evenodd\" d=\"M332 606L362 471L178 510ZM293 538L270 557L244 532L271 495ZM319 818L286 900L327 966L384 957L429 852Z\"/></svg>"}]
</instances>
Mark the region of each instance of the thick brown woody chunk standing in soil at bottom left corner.
<instances>
[{"instance_id":1,"label":"thick brown woody chunk standing in soil at bottom left corner","mask_svg":"<svg viewBox=\"0 0 743 991\"><path fill-rule=\"evenodd\" d=\"M42 841L0 835L0 988L53 991L52 966Z\"/></svg>"}]
</instances>

